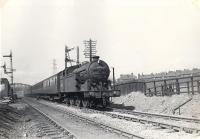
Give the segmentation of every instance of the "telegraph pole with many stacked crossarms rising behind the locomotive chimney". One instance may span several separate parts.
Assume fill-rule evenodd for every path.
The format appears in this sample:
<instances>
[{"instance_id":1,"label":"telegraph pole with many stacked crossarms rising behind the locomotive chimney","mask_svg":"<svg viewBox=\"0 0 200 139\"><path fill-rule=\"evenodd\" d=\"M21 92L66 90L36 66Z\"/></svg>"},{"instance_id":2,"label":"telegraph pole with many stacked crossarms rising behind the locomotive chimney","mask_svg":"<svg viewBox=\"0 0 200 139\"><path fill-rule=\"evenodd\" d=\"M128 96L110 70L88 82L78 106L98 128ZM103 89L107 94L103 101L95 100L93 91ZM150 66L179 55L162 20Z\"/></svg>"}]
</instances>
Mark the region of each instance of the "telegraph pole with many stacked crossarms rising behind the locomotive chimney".
<instances>
[{"instance_id":1,"label":"telegraph pole with many stacked crossarms rising behind the locomotive chimney","mask_svg":"<svg viewBox=\"0 0 200 139\"><path fill-rule=\"evenodd\" d=\"M86 58L90 59L90 62L92 61L92 57L96 55L96 42L91 39L85 40L85 50L84 50L84 55Z\"/></svg>"}]
</instances>

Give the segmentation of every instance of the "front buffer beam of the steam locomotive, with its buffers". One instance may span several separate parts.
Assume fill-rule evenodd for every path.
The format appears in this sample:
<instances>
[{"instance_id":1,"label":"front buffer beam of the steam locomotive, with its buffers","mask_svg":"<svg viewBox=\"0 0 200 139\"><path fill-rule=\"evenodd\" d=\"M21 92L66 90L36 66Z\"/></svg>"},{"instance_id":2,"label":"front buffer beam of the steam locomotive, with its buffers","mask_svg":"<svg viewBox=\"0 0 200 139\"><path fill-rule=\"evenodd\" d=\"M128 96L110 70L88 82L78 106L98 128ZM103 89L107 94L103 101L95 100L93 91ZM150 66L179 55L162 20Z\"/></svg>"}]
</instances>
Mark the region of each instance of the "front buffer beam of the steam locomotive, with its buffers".
<instances>
[{"instance_id":1,"label":"front buffer beam of the steam locomotive, with its buffers","mask_svg":"<svg viewBox=\"0 0 200 139\"><path fill-rule=\"evenodd\" d=\"M84 97L118 97L120 96L120 90L107 90L107 91L88 91L84 92Z\"/></svg>"}]
</instances>

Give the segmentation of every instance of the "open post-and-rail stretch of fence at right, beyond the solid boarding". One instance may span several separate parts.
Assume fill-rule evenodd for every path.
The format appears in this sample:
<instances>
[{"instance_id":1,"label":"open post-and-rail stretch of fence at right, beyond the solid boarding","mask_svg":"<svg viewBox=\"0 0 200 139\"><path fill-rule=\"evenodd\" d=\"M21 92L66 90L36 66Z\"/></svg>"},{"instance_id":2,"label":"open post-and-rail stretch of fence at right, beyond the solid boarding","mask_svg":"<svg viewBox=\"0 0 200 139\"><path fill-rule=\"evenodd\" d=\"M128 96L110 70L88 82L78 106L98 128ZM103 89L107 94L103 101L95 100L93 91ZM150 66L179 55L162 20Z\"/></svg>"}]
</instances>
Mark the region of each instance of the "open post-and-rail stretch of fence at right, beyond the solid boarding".
<instances>
[{"instance_id":1,"label":"open post-and-rail stretch of fence at right, beyond the solid boarding","mask_svg":"<svg viewBox=\"0 0 200 139\"><path fill-rule=\"evenodd\" d=\"M148 81L144 93L150 96L200 93L200 75Z\"/></svg>"}]
</instances>

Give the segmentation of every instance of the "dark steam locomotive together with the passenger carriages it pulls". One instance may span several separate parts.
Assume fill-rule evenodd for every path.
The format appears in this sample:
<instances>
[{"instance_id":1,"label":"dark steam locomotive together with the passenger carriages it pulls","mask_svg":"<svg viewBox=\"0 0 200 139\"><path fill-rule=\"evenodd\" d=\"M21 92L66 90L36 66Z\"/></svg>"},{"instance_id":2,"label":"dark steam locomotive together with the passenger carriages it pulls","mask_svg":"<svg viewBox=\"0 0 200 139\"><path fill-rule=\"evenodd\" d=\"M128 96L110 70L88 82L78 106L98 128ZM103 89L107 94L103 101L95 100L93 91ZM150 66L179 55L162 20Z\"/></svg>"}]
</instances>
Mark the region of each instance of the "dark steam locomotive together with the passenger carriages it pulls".
<instances>
[{"instance_id":1,"label":"dark steam locomotive together with the passenger carriages it pulls","mask_svg":"<svg viewBox=\"0 0 200 139\"><path fill-rule=\"evenodd\" d=\"M31 96L59 99L78 107L107 107L111 97L120 96L108 80L106 62L94 56L91 62L65 68L63 71L33 85Z\"/></svg>"}]
</instances>

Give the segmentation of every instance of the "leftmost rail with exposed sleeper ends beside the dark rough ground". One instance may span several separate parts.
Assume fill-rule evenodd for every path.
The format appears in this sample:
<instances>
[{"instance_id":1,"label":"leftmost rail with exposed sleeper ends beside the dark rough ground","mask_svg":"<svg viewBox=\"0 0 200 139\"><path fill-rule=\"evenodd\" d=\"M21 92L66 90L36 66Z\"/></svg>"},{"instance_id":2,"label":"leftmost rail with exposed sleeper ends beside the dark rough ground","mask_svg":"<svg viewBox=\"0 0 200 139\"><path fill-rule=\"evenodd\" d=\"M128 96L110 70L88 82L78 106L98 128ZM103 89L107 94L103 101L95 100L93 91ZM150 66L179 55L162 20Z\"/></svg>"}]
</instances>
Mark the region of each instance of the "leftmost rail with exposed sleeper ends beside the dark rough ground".
<instances>
[{"instance_id":1,"label":"leftmost rail with exposed sleeper ends beside the dark rough ground","mask_svg":"<svg viewBox=\"0 0 200 139\"><path fill-rule=\"evenodd\" d=\"M58 122L52 119L49 115L42 112L35 105L31 105L27 101L24 101L36 112L34 116L38 117L38 123L35 125L39 130L37 137L48 137L51 139L77 139L77 137L72 134L68 129L62 127Z\"/></svg>"}]
</instances>

